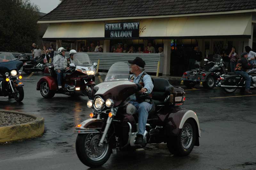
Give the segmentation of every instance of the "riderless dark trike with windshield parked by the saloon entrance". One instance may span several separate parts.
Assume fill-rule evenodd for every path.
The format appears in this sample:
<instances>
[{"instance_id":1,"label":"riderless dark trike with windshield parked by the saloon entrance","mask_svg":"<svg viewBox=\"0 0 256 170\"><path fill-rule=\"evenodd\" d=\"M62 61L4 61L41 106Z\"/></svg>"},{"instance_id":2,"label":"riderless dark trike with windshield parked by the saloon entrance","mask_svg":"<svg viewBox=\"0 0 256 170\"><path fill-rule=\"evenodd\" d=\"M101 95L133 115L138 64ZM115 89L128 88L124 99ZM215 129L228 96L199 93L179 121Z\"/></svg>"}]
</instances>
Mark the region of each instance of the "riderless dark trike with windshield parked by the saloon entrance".
<instances>
[{"instance_id":1,"label":"riderless dark trike with windshield parked by the saloon entrance","mask_svg":"<svg viewBox=\"0 0 256 170\"><path fill-rule=\"evenodd\" d=\"M208 59L204 59L207 63L204 64L205 70L192 70L183 73L180 84L184 84L186 87L194 87L199 84L200 87L212 89L218 83L218 78L222 74L226 74L223 60L220 55L214 55L213 61L209 62ZM207 67L209 69L207 69ZM207 71L208 70L208 71Z\"/></svg>"}]
</instances>

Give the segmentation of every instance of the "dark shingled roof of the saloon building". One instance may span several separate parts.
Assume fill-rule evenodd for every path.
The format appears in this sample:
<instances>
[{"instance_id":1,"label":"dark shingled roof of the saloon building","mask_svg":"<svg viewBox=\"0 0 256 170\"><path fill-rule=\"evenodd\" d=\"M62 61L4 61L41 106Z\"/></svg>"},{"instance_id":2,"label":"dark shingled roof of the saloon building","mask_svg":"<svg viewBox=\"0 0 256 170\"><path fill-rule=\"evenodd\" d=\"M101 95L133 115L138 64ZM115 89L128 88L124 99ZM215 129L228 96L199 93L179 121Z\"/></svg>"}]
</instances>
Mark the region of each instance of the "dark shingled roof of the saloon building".
<instances>
[{"instance_id":1,"label":"dark shingled roof of the saloon building","mask_svg":"<svg viewBox=\"0 0 256 170\"><path fill-rule=\"evenodd\" d=\"M255 0L63 0L39 21L227 12L255 7Z\"/></svg>"}]
</instances>

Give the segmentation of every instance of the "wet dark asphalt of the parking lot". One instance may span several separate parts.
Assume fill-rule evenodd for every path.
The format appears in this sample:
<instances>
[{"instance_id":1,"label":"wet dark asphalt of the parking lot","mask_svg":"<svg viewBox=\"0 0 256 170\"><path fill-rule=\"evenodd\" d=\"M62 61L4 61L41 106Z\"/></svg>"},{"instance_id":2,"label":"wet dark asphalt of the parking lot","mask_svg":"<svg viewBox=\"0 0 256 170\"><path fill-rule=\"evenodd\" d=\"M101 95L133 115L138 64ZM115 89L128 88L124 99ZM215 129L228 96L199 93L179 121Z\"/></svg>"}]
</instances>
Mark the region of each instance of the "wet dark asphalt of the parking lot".
<instances>
[{"instance_id":1,"label":"wet dark asphalt of the parking lot","mask_svg":"<svg viewBox=\"0 0 256 170\"><path fill-rule=\"evenodd\" d=\"M36 90L42 76L24 75L22 103L0 97L1 109L34 113L45 119L42 137L0 145L0 170L88 169L76 156L74 134L74 127L88 119L88 98L56 94L44 99ZM187 89L186 93L182 107L196 112L202 135L200 146L195 146L190 155L174 157L161 144L158 149L112 154L106 164L96 169L256 169L256 91L255 96L241 96L239 90L226 94L218 88Z\"/></svg>"}]
</instances>

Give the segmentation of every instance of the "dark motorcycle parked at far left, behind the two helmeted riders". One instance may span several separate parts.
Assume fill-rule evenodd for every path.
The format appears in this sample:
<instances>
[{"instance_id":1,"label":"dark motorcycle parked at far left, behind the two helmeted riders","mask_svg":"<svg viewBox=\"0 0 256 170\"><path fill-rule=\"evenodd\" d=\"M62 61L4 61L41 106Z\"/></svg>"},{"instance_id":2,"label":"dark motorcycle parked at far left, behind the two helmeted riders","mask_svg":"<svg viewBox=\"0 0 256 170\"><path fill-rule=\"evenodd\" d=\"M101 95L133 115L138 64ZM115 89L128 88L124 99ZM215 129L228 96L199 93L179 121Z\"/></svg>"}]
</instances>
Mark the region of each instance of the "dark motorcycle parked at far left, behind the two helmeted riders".
<instances>
[{"instance_id":1,"label":"dark motorcycle parked at far left, behind the two helmeted riders","mask_svg":"<svg viewBox=\"0 0 256 170\"><path fill-rule=\"evenodd\" d=\"M23 71L26 74L31 74L32 72L43 72L46 67L46 62L44 61L44 56L38 56L30 61L27 61L23 65Z\"/></svg>"}]
</instances>

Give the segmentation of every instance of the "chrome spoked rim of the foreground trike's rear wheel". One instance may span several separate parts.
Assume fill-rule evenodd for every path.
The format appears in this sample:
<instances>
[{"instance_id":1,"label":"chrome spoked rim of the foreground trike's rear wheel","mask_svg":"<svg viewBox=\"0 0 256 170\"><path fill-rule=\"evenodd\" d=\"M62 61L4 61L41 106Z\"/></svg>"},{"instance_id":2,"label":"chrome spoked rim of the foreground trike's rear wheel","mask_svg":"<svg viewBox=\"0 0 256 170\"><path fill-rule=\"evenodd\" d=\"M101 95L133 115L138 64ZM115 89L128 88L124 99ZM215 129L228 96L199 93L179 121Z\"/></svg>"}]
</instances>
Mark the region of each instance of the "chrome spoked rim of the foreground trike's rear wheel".
<instances>
[{"instance_id":1,"label":"chrome spoked rim of the foreground trike's rear wheel","mask_svg":"<svg viewBox=\"0 0 256 170\"><path fill-rule=\"evenodd\" d=\"M186 123L181 131L181 144L184 149L188 149L193 140L193 129L189 123Z\"/></svg>"}]
</instances>

